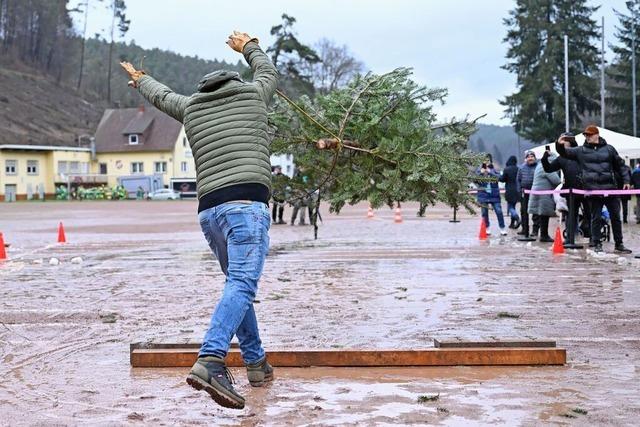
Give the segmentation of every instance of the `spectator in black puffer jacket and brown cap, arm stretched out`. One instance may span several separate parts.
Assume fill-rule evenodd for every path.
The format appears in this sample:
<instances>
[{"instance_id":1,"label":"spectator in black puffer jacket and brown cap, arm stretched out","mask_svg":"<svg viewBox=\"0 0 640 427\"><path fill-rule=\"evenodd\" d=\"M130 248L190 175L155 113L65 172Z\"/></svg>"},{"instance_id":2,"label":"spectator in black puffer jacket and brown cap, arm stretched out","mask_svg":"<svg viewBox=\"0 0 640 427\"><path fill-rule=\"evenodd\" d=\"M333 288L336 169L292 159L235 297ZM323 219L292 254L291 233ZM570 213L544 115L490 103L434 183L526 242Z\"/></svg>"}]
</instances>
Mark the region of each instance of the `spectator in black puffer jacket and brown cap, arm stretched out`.
<instances>
[{"instance_id":1,"label":"spectator in black puffer jacket and brown cap, arm stretched out","mask_svg":"<svg viewBox=\"0 0 640 427\"><path fill-rule=\"evenodd\" d=\"M558 145L562 157L577 160L580 165L582 183L585 190L614 190L617 188L615 174L619 174L623 188L629 188L629 171L618 151L600 137L597 126L587 126L584 130L585 143L581 147L566 148ZM622 242L622 221L620 221L620 198L614 196L590 196L591 205L591 246L594 251L602 252L602 207L606 206L611 216L611 228L615 241L615 251L629 254Z\"/></svg>"}]
</instances>

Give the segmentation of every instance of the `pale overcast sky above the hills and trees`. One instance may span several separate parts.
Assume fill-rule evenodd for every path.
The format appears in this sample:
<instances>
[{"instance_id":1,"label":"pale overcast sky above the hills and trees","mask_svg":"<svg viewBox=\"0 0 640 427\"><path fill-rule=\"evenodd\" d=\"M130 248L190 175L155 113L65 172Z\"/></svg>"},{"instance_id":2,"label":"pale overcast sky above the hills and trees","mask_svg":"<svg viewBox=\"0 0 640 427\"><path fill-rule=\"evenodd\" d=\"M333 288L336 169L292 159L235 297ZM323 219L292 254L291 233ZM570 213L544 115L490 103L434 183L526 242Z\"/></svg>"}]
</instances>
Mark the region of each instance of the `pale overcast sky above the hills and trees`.
<instances>
[{"instance_id":1,"label":"pale overcast sky above the hills and trees","mask_svg":"<svg viewBox=\"0 0 640 427\"><path fill-rule=\"evenodd\" d=\"M84 0L70 3L74 1ZM89 1L87 35L93 36L107 30L111 21L103 3ZM374 72L413 67L420 83L448 88L447 104L436 108L441 118L486 113L482 122L508 124L498 100L515 90L515 78L500 68L507 50L502 20L514 7L512 0L126 0L126 4L131 28L125 41L234 62L238 54L225 45L230 31L248 32L268 46L269 30L280 23L284 12L298 20L298 36L305 43L327 37L348 45ZM591 0L591 4L601 6L594 17L598 23L605 17L606 38L613 42L618 25L613 9L625 10L624 0ZM81 18L76 16L78 24ZM607 57L611 58L610 52Z\"/></svg>"}]
</instances>

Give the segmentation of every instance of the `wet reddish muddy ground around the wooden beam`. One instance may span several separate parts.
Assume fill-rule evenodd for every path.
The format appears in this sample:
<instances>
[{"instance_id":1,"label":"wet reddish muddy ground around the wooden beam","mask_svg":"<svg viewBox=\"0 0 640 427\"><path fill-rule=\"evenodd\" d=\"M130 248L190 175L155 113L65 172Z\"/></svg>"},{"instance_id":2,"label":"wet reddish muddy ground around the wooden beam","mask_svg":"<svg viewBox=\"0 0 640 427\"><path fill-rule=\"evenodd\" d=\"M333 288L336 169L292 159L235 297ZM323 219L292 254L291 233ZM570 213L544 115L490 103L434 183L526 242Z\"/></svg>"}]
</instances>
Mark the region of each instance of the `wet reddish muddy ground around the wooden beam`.
<instances>
[{"instance_id":1,"label":"wet reddish muddy ground around the wooden beam","mask_svg":"<svg viewBox=\"0 0 640 427\"><path fill-rule=\"evenodd\" d=\"M267 350L545 338L567 349L567 366L277 369L263 389L237 369L242 411L189 388L187 369L133 369L129 343L200 341L208 325L223 276L195 210L0 205L11 244L0 265L0 424L637 425L640 260L554 258L495 229L479 242L477 218L451 224L440 208L418 219L406 206L403 224L389 210L367 220L365 206L325 213L317 241L309 227L273 226L256 306ZM54 243L58 221L66 245ZM640 227L625 233L640 251Z\"/></svg>"}]
</instances>

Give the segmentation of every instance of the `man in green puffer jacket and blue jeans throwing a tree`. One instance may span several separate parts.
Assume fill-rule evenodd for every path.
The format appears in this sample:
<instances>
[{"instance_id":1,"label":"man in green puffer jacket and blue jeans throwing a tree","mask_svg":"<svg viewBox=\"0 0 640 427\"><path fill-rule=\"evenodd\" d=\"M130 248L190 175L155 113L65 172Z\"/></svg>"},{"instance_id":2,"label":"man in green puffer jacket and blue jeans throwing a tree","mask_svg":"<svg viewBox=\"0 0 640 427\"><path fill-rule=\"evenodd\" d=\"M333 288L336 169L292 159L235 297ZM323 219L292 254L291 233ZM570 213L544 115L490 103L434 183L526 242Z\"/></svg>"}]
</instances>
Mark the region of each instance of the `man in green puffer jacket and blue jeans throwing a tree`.
<instances>
[{"instance_id":1,"label":"man in green puffer jacket and blue jeans throwing a tree","mask_svg":"<svg viewBox=\"0 0 640 427\"><path fill-rule=\"evenodd\" d=\"M225 367L231 339L237 335L247 375L260 387L273 378L258 333L253 301L269 248L271 164L267 105L278 72L258 39L234 31L227 44L244 55L254 72L244 82L233 71L207 74L191 96L174 93L131 64L121 65L129 85L159 110L184 124L196 163L198 219L226 276L198 360L187 383L205 390L218 404L244 408Z\"/></svg>"}]
</instances>

